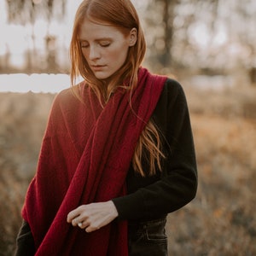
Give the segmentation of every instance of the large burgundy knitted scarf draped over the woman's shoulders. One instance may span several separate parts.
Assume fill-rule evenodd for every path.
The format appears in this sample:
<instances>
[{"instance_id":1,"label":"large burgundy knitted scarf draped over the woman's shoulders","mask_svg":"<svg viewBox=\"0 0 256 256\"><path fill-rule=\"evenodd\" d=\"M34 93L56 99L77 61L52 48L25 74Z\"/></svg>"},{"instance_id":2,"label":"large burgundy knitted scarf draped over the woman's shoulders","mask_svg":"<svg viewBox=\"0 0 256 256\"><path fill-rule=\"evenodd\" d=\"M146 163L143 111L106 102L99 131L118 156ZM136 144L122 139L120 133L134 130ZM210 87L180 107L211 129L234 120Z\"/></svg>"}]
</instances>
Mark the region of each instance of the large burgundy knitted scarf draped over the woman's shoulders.
<instances>
[{"instance_id":1,"label":"large burgundy knitted scarf draped over the woman's shoulders","mask_svg":"<svg viewBox=\"0 0 256 256\"><path fill-rule=\"evenodd\" d=\"M114 220L86 233L67 224L67 213L82 204L125 195L125 177L138 137L165 81L140 68L131 103L130 91L119 88L104 108L85 84L81 89L84 103L71 90L55 97L38 172L22 209L36 255L128 255L126 221Z\"/></svg>"}]
</instances>

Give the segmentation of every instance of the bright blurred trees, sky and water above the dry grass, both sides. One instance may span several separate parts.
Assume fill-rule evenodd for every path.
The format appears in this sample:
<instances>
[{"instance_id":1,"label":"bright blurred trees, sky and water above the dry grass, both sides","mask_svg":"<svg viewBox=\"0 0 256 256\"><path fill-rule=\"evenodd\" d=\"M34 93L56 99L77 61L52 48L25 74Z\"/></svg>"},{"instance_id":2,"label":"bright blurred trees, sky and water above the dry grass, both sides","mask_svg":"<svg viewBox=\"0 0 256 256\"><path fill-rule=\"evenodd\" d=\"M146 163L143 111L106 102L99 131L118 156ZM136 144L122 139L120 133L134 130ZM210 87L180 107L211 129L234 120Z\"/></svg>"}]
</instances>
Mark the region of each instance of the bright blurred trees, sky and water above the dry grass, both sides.
<instances>
[{"instance_id":1,"label":"bright blurred trees, sky and water above the dry grass, both sides","mask_svg":"<svg viewBox=\"0 0 256 256\"><path fill-rule=\"evenodd\" d=\"M56 92L69 86L68 47L79 3L0 0L1 91ZM255 1L133 3L148 43L144 65L154 72L193 75L193 81L206 79L198 77L203 74L255 82Z\"/></svg>"}]
</instances>

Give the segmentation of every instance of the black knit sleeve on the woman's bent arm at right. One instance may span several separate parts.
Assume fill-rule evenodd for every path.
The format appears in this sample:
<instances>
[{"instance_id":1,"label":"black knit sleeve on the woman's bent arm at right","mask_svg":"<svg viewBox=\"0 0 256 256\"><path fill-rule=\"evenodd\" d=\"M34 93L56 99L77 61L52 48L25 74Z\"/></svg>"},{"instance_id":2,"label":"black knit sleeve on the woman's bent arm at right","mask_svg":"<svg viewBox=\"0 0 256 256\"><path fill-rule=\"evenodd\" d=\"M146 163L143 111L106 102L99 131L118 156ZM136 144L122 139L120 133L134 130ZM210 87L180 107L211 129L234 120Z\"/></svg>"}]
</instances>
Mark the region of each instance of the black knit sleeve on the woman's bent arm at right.
<instances>
[{"instance_id":1,"label":"black knit sleeve on the woman's bent arm at right","mask_svg":"<svg viewBox=\"0 0 256 256\"><path fill-rule=\"evenodd\" d=\"M195 198L195 146L186 98L177 81L167 80L152 118L164 137L164 170L154 183L113 199L119 219L158 218Z\"/></svg>"}]
</instances>

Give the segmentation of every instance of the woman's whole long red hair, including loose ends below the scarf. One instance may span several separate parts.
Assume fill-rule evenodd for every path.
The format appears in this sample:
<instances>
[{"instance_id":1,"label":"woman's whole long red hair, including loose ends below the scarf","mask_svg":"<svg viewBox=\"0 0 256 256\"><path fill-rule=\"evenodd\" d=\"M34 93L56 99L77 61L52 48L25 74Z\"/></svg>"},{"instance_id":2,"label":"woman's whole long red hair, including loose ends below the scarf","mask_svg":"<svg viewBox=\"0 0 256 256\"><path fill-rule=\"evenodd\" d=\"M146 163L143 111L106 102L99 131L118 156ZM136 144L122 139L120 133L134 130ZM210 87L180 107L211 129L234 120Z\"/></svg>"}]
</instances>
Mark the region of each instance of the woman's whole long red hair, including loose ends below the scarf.
<instances>
[{"instance_id":1,"label":"woman's whole long red hair, including loose ends below the scarf","mask_svg":"<svg viewBox=\"0 0 256 256\"><path fill-rule=\"evenodd\" d=\"M115 26L120 32L128 35L131 29L137 29L137 43L128 49L125 63L116 73L113 73L108 82L96 79L87 61L82 54L79 44L79 30L84 22L84 18L92 20L97 24ZM137 11L130 0L84 0L79 5L73 23L73 35L70 44L71 58L71 80L72 85L76 84L76 79L82 76L92 90L95 91L99 101L102 98L105 102L116 89L117 86L124 86L124 81L129 81L127 90L134 90L137 86L138 69L142 64L146 51L146 42ZM108 84L106 84L108 83ZM79 94L75 92L79 97ZM131 106L132 108L132 106ZM139 117L138 117L139 118ZM134 170L142 176L146 174L154 175L156 166L161 170L160 158L164 155L160 150L160 136L151 120L145 126L132 159ZM147 154L145 154L145 151ZM147 155L149 172L143 170L143 157Z\"/></svg>"}]
</instances>

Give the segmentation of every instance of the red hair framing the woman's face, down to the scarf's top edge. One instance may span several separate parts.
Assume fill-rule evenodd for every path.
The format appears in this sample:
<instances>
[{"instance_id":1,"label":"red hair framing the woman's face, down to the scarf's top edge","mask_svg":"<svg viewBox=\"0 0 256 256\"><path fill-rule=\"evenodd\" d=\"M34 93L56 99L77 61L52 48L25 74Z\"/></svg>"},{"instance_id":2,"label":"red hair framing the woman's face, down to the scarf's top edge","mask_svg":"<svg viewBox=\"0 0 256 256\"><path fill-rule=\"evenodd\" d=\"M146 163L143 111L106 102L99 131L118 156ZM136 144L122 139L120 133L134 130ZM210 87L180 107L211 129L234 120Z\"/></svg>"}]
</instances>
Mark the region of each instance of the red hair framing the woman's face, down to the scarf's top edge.
<instances>
[{"instance_id":1,"label":"red hair framing the woman's face, down to the scarf's top edge","mask_svg":"<svg viewBox=\"0 0 256 256\"><path fill-rule=\"evenodd\" d=\"M108 86L105 85L105 81L96 79L82 54L78 35L84 17L98 24L115 26L124 34L129 33L134 27L137 29L137 44L129 48L125 64L113 74ZM76 84L75 79L81 75L92 89L96 91L97 96L103 95L107 99L114 88L117 85L123 85L123 81L127 79L130 79L129 85L130 88L133 88L137 84L137 72L142 64L145 51L146 42L143 30L137 11L130 1L84 0L80 4L75 15L73 36L70 45L70 57L72 62L71 79L73 85Z\"/></svg>"}]
</instances>

